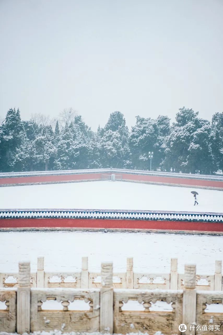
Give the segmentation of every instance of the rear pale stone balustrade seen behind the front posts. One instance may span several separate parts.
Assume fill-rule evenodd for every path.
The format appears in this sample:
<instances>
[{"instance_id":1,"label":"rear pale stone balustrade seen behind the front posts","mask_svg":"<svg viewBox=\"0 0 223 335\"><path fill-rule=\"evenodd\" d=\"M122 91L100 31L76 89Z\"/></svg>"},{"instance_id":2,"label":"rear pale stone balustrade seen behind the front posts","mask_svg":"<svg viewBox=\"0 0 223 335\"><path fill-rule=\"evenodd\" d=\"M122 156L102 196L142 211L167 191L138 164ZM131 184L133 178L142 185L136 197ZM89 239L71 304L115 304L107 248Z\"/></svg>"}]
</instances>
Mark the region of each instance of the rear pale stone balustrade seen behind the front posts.
<instances>
[{"instance_id":1,"label":"rear pale stone balustrade seen behind the front posts","mask_svg":"<svg viewBox=\"0 0 223 335\"><path fill-rule=\"evenodd\" d=\"M149 269L148 269L149 270ZM171 259L169 273L134 272L133 258L127 258L125 272L113 272L113 288L127 289L183 289L184 274L178 273L178 259ZM44 271L44 257L37 258L37 272L30 274L31 287L38 288L100 288L102 274L90 272L88 257L82 257L80 272ZM17 287L18 273L0 273L0 287ZM200 290L223 290L222 261L215 262L215 273L196 274L196 288Z\"/></svg>"}]
</instances>

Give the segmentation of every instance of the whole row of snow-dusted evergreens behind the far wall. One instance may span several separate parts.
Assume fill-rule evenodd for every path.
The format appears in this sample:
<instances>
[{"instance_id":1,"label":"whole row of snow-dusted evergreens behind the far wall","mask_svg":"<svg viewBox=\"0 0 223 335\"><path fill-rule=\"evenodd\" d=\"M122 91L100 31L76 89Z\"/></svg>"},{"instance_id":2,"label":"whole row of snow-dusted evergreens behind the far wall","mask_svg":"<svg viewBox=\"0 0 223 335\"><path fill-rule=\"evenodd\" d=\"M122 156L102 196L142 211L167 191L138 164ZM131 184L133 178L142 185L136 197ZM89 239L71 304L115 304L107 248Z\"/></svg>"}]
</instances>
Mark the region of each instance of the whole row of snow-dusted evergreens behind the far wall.
<instances>
[{"instance_id":1,"label":"whole row of snow-dusted evergreens behind the far wall","mask_svg":"<svg viewBox=\"0 0 223 335\"><path fill-rule=\"evenodd\" d=\"M69 114L70 115L70 114ZM131 128L122 113L110 114L104 128L93 132L80 115L57 121L22 121L10 109L0 125L0 171L69 170L101 167L213 174L223 170L223 113L212 122L198 112L180 108L170 124L167 116L136 116Z\"/></svg>"}]
</instances>

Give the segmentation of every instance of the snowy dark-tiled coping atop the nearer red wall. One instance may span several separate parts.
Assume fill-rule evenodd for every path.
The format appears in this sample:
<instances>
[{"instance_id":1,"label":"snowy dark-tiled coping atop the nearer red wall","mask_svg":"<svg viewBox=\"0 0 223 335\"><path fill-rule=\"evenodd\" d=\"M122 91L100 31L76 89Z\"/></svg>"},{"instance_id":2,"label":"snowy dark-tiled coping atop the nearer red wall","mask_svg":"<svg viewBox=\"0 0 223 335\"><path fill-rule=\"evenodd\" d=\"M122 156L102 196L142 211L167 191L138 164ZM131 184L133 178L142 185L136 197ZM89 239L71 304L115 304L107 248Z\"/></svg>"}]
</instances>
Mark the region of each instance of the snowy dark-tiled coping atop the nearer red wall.
<instances>
[{"instance_id":1,"label":"snowy dark-tiled coping atop the nearer red wall","mask_svg":"<svg viewBox=\"0 0 223 335\"><path fill-rule=\"evenodd\" d=\"M223 213L101 209L0 209L0 219L70 218L223 222Z\"/></svg>"}]
</instances>

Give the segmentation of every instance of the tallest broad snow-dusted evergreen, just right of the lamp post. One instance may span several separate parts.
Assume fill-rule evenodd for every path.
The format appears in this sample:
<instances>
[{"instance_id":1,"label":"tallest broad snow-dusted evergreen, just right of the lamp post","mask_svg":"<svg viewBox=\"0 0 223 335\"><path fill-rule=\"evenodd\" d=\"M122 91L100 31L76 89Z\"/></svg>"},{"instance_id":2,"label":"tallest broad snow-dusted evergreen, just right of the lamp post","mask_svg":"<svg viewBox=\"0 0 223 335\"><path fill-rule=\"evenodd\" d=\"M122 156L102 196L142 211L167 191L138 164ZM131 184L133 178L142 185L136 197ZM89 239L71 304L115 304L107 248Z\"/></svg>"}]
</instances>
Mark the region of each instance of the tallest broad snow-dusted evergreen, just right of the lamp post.
<instances>
[{"instance_id":1,"label":"tallest broad snow-dusted evergreen, just right of the lamp post","mask_svg":"<svg viewBox=\"0 0 223 335\"><path fill-rule=\"evenodd\" d=\"M173 172L213 173L216 171L212 144L214 133L198 112L180 108L164 144L162 166Z\"/></svg>"}]
</instances>

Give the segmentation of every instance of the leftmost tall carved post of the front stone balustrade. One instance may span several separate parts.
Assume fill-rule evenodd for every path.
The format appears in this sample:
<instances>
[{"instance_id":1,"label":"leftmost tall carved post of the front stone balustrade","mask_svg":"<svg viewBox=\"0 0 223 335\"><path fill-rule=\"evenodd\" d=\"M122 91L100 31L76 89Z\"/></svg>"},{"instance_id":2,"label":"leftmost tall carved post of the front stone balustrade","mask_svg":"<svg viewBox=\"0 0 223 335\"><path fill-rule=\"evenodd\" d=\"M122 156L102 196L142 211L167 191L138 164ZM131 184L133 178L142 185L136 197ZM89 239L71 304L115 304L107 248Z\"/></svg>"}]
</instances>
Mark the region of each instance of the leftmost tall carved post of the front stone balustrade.
<instances>
[{"instance_id":1,"label":"leftmost tall carved post of the front stone balustrade","mask_svg":"<svg viewBox=\"0 0 223 335\"><path fill-rule=\"evenodd\" d=\"M17 287L17 333L30 332L30 262L19 262Z\"/></svg>"}]
</instances>

